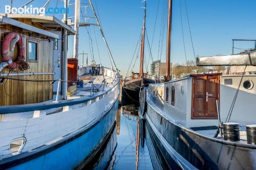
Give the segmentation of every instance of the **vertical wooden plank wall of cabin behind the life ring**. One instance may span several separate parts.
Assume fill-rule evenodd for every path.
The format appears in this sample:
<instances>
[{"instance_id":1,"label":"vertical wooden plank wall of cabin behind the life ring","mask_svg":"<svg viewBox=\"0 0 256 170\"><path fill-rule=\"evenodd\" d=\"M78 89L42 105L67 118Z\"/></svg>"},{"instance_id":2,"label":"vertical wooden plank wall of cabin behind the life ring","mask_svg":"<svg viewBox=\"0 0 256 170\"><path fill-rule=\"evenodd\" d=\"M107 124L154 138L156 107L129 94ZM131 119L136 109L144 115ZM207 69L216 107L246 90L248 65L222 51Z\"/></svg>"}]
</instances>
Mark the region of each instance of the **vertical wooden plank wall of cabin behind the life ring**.
<instances>
[{"instance_id":1,"label":"vertical wooden plank wall of cabin behind the life ring","mask_svg":"<svg viewBox=\"0 0 256 170\"><path fill-rule=\"evenodd\" d=\"M23 20L26 22L26 20ZM29 22L29 21L28 21ZM41 39L37 34L24 33L19 28L14 28L10 25L0 27L0 40L1 46L4 36L8 32L17 32L22 35L25 43L25 60L27 61L27 42L28 40L36 41L38 44L37 62L28 62L30 69L23 72L53 72L53 42ZM15 46L15 50L11 53L12 59L16 60L18 55L18 47ZM0 59L2 62L2 59ZM5 68L3 73L9 72L8 68ZM15 73L15 72L10 72ZM53 75L36 75L36 76L11 76L10 78L25 78L25 79L37 79L37 80L53 80ZM5 80L3 84L0 84L0 106L7 105L22 105L39 103L52 99L53 85L50 82L24 82L16 80Z\"/></svg>"}]
</instances>

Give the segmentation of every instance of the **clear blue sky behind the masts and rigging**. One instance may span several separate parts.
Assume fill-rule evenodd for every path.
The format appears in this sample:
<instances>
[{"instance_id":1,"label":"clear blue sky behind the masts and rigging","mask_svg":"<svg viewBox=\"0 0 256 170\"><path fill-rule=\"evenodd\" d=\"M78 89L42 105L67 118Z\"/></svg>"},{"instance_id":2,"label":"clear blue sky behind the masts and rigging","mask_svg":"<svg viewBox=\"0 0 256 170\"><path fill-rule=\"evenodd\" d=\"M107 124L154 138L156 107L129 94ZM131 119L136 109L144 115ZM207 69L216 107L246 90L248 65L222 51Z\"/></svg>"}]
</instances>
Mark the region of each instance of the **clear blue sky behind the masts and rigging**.
<instances>
[{"instance_id":1,"label":"clear blue sky behind the masts and rigging","mask_svg":"<svg viewBox=\"0 0 256 170\"><path fill-rule=\"evenodd\" d=\"M28 0L27 0L28 1ZM71 0L72 3L73 0ZM82 0L83 1L83 0ZM35 0L33 6L43 6L46 0ZM49 6L55 7L57 0L51 0ZM183 21L183 32L186 47L187 60L195 60L191 46L190 35L187 24L187 16L185 11L184 0L173 0L173 23L172 23L172 52L171 61L173 63L184 63L184 46L181 31L181 14ZM188 17L193 37L196 56L213 56L218 54L231 54L233 38L256 39L256 22L255 12L251 7L256 6L253 0L186 0ZM0 11L4 13L4 6L9 5L9 0L0 2ZM13 0L13 7L23 5L24 1ZM95 4L95 0L93 0ZM159 3L159 8L158 7ZM180 14L181 3L181 14ZM105 32L107 41L109 42L111 51L116 61L117 67L121 73L125 75L129 62L135 51L136 43L139 39L142 21L143 21L143 3L140 0L117 1L117 0L96 0L100 20ZM158 55L159 38L161 32L161 17L166 7L167 0L147 0L147 20L146 29L148 39L151 43L153 37L154 23L157 9L159 9L155 36L152 46L152 56L154 60L160 59L165 61L166 51L166 32L163 38L162 55ZM59 0L58 7L62 7L63 3ZM69 16L73 16L73 7L70 7ZM56 15L61 18L60 15ZM166 30L166 15L165 30ZM100 56L103 65L110 66L108 53L102 37L97 27L88 27L93 37L93 50L95 60L99 63L97 46L95 41L94 29L96 31L96 39L99 46ZM69 56L72 57L72 41L70 36ZM161 40L162 41L162 40ZM89 53L89 61L91 60L91 52L89 38L86 28L80 29L80 48L79 52ZM239 48L249 48L254 45L253 42L238 42L235 44ZM161 45L160 45L161 46ZM146 48L145 57L148 61L149 52ZM161 50L160 50L161 51ZM236 51L239 52L239 51ZM151 63L151 60L150 60ZM138 71L139 63L135 64L134 70Z\"/></svg>"}]
</instances>

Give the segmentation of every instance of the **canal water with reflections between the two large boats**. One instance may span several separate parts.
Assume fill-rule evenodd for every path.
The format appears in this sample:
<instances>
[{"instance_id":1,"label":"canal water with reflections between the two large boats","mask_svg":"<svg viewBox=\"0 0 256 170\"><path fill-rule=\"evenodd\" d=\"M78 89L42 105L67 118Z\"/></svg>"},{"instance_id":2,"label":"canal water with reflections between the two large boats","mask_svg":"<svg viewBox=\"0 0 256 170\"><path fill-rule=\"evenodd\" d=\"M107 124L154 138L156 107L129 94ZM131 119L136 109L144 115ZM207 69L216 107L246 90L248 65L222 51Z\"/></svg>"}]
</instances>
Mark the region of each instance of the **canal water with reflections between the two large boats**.
<instances>
[{"instance_id":1,"label":"canal water with reflections between the two large boats","mask_svg":"<svg viewBox=\"0 0 256 170\"><path fill-rule=\"evenodd\" d=\"M116 127L84 169L168 169L135 105L118 109Z\"/></svg>"}]
</instances>

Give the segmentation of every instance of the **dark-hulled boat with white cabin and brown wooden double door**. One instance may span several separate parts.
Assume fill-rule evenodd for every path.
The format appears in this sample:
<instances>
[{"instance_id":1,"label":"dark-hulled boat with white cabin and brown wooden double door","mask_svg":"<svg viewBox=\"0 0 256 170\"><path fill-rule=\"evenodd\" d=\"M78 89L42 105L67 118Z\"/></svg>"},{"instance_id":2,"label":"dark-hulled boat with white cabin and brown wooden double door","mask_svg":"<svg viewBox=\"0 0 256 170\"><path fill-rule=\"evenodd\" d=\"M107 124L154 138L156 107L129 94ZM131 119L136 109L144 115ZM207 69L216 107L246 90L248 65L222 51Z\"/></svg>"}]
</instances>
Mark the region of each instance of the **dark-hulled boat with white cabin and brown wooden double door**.
<instances>
[{"instance_id":1,"label":"dark-hulled boat with white cabin and brown wooden double door","mask_svg":"<svg viewBox=\"0 0 256 170\"><path fill-rule=\"evenodd\" d=\"M171 13L169 0L167 61ZM140 116L169 168L256 168L256 76L246 73L255 59L254 51L199 57L198 66L240 65L243 72L189 75L141 88Z\"/></svg>"}]
</instances>

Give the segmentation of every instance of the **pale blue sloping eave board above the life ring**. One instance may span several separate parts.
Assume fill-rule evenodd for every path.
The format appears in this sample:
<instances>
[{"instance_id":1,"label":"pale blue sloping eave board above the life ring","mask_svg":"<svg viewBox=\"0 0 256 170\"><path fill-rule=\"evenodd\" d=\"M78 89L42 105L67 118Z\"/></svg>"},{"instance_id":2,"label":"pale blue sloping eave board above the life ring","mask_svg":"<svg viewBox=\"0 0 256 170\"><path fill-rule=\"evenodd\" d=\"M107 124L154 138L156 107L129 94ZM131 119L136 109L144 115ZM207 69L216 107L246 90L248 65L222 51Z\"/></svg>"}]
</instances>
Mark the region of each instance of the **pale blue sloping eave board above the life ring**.
<instances>
[{"instance_id":1,"label":"pale blue sloping eave board above the life ring","mask_svg":"<svg viewBox=\"0 0 256 170\"><path fill-rule=\"evenodd\" d=\"M32 32L38 33L39 35L42 35L42 36L47 36L47 37L51 37L51 38L59 38L59 35L57 35L55 33L52 33L52 32L46 31L46 30L42 30L42 29L30 26L30 25L28 25L26 23L17 21L15 19L6 17L4 15L0 15L0 24L3 24L3 23L4 24L7 23L9 25L22 28L24 30L32 31Z\"/></svg>"}]
</instances>

